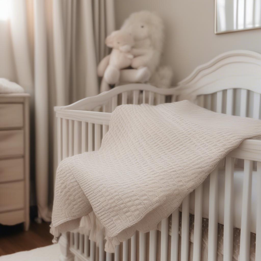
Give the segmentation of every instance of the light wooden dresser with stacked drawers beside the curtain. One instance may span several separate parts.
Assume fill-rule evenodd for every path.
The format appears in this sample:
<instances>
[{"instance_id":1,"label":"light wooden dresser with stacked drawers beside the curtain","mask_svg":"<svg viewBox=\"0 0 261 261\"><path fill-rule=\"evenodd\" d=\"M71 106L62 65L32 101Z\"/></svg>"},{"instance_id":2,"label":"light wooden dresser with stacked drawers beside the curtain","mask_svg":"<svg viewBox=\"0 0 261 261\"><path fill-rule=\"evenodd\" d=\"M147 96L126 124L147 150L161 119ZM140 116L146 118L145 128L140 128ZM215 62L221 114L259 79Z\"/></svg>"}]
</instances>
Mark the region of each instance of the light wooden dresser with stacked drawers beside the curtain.
<instances>
[{"instance_id":1,"label":"light wooden dresser with stacked drawers beside the curtain","mask_svg":"<svg viewBox=\"0 0 261 261\"><path fill-rule=\"evenodd\" d=\"M29 112L26 93L0 94L0 223L29 228Z\"/></svg>"}]
</instances>

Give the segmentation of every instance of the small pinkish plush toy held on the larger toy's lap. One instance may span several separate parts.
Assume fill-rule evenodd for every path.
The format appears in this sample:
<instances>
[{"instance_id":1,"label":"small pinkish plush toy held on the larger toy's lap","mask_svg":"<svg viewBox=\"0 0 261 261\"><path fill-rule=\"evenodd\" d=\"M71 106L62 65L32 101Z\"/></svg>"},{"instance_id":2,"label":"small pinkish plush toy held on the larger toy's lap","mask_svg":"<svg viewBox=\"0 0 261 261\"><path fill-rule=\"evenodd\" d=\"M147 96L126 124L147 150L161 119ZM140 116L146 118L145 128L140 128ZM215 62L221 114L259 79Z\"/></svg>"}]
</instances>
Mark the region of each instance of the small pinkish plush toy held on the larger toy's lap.
<instances>
[{"instance_id":1,"label":"small pinkish plush toy held on the larger toy's lap","mask_svg":"<svg viewBox=\"0 0 261 261\"><path fill-rule=\"evenodd\" d=\"M120 78L120 70L128 68L132 64L134 56L131 54L131 49L134 45L134 39L130 32L118 30L112 32L106 38L105 44L112 48L112 51L107 58L105 57L106 60L100 62L97 73L98 76L103 76L108 84L116 84ZM147 75L144 79L143 75L140 73L137 80L146 81L150 77L150 75Z\"/></svg>"}]
</instances>

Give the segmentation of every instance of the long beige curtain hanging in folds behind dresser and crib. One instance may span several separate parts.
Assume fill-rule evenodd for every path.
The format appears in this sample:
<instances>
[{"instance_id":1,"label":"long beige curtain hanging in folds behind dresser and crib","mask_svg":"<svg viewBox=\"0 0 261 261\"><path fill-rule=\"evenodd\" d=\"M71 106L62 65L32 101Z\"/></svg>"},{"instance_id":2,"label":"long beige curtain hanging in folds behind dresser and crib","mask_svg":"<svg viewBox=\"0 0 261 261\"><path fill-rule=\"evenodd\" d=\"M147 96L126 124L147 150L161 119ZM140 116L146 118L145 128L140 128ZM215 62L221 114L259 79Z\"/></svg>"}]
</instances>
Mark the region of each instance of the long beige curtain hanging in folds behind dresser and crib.
<instances>
[{"instance_id":1,"label":"long beige curtain hanging in folds behind dresser and crib","mask_svg":"<svg viewBox=\"0 0 261 261\"><path fill-rule=\"evenodd\" d=\"M53 108L99 93L96 67L114 29L114 0L12 0L14 78L32 96L32 179L45 221L57 162Z\"/></svg>"}]
</instances>

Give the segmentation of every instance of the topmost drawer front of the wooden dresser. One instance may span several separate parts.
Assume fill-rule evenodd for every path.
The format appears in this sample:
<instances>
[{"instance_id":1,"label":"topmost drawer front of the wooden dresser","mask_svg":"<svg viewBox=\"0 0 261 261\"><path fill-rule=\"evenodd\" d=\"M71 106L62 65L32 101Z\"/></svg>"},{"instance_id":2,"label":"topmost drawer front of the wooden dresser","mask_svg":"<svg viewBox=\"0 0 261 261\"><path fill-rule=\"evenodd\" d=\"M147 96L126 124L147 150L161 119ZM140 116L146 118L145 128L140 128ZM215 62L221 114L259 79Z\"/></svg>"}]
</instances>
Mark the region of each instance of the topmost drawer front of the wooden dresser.
<instances>
[{"instance_id":1,"label":"topmost drawer front of the wooden dresser","mask_svg":"<svg viewBox=\"0 0 261 261\"><path fill-rule=\"evenodd\" d=\"M23 127L23 104L0 104L0 128Z\"/></svg>"}]
</instances>

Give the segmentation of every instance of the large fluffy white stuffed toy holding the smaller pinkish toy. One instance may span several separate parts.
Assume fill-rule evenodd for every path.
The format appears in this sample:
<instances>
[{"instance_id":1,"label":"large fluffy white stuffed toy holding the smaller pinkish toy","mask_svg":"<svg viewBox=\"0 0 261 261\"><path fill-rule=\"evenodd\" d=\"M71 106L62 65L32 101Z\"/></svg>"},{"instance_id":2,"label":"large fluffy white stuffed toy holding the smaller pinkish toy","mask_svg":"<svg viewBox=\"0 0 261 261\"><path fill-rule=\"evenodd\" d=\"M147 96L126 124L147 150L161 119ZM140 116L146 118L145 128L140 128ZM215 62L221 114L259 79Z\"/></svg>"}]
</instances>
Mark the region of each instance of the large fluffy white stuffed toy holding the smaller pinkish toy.
<instances>
[{"instance_id":1,"label":"large fluffy white stuffed toy holding the smaller pinkish toy","mask_svg":"<svg viewBox=\"0 0 261 261\"><path fill-rule=\"evenodd\" d=\"M164 41L162 19L150 11L139 11L124 21L121 30L133 36L134 46L131 53L134 58L131 62L133 69L120 70L119 82L149 82L160 88L170 87L172 70L169 67L159 66ZM105 57L100 64L106 59L109 60L109 57ZM101 92L108 89L102 82Z\"/></svg>"}]
</instances>

